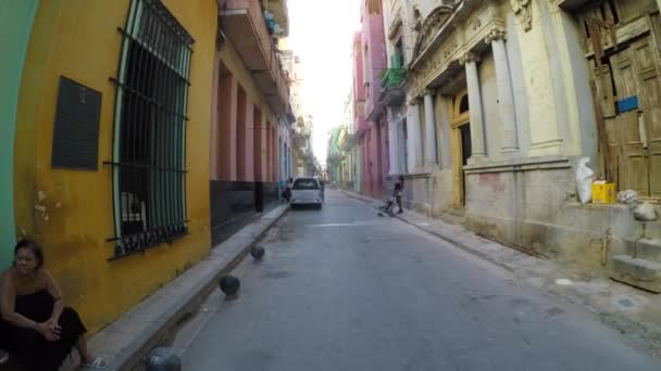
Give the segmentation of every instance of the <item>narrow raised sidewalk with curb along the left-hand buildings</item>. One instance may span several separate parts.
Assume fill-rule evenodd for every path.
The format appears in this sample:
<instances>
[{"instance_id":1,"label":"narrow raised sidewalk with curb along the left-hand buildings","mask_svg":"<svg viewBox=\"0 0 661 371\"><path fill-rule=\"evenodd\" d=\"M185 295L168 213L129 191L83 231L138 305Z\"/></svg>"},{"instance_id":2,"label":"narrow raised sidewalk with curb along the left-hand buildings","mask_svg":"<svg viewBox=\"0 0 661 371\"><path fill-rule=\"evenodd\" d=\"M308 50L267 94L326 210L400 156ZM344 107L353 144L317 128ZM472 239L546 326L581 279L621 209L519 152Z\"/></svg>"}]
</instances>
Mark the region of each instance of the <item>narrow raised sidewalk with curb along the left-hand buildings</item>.
<instances>
[{"instance_id":1,"label":"narrow raised sidewalk with curb along the left-hand buildings","mask_svg":"<svg viewBox=\"0 0 661 371\"><path fill-rule=\"evenodd\" d=\"M92 336L90 340L91 350L110 358L111 364L107 370L132 370L144 360L152 348L162 345L172 329L215 290L217 280L232 271L248 255L250 247L263 238L288 210L288 205L279 205L244 227L232 238L212 248L205 259L198 261L186 273L152 293L136 307ZM161 312L150 318L149 314L151 311L160 309L157 307L162 305L159 300L167 302L171 299L169 295L172 294L171 292L177 295L176 299L166 303L166 305L170 305L169 307L161 309ZM132 321L141 322L138 324L147 324L132 338L122 340L122 336L117 336L117 332L130 332L134 325ZM114 343L121 343L120 347L115 351L109 351L107 345L113 344L113 340Z\"/></svg>"}]
</instances>

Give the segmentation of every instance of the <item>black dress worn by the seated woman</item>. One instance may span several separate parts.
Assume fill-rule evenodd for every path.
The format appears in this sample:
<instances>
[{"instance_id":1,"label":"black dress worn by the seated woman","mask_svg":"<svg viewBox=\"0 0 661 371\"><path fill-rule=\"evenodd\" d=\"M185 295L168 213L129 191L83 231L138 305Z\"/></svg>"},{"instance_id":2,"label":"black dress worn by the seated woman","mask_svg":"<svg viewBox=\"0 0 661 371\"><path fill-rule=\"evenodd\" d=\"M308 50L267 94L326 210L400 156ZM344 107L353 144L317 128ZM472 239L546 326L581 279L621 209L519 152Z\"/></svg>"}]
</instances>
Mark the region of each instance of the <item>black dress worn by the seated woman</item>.
<instances>
[{"instance_id":1,"label":"black dress worn by the seated woman","mask_svg":"<svg viewBox=\"0 0 661 371\"><path fill-rule=\"evenodd\" d=\"M55 300L43 290L28 295L16 295L15 311L37 323L46 322L53 312ZM49 342L39 332L11 325L10 349L18 362L29 371L58 371L75 346L80 335L87 330L78 314L72 308L64 308L60 316L60 340Z\"/></svg>"}]
</instances>

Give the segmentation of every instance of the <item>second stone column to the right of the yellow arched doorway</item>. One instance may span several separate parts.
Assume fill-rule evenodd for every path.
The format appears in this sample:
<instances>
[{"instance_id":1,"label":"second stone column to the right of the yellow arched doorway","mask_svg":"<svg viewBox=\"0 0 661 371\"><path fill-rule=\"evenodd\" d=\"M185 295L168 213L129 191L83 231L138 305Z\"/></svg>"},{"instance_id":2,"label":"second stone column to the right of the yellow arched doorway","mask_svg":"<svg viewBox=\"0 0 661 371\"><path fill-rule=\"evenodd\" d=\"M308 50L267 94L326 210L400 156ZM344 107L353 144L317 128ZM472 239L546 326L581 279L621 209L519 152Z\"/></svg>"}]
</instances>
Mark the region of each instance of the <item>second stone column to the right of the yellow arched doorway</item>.
<instances>
[{"instance_id":1,"label":"second stone column to the right of the yellow arched doorway","mask_svg":"<svg viewBox=\"0 0 661 371\"><path fill-rule=\"evenodd\" d=\"M514 92L512 90L512 77L510 64L504 48L504 31L494 29L485 38L486 43L491 44L494 52L494 64L496 65L496 81L498 84L498 106L500 108L500 121L502 123L502 150L519 150L516 133L516 114L514 112Z\"/></svg>"}]
</instances>

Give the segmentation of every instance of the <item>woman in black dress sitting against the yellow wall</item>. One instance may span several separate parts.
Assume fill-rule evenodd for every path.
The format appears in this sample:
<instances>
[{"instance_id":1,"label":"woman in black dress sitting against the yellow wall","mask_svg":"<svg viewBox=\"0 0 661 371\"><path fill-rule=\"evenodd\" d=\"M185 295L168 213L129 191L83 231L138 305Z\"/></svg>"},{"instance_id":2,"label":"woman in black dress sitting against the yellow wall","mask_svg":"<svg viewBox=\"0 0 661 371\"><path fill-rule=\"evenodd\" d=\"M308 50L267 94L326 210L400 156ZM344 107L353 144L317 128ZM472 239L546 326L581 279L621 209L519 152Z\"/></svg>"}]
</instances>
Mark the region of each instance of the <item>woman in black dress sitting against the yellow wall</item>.
<instances>
[{"instance_id":1,"label":"woman in black dress sitting against the yellow wall","mask_svg":"<svg viewBox=\"0 0 661 371\"><path fill-rule=\"evenodd\" d=\"M11 351L29 371L57 371L75 346L83 366L105 369L108 362L87 349L86 329L78 314L64 306L43 253L33 241L14 248L14 264L2 274L2 319ZM2 320L0 319L0 320Z\"/></svg>"}]
</instances>

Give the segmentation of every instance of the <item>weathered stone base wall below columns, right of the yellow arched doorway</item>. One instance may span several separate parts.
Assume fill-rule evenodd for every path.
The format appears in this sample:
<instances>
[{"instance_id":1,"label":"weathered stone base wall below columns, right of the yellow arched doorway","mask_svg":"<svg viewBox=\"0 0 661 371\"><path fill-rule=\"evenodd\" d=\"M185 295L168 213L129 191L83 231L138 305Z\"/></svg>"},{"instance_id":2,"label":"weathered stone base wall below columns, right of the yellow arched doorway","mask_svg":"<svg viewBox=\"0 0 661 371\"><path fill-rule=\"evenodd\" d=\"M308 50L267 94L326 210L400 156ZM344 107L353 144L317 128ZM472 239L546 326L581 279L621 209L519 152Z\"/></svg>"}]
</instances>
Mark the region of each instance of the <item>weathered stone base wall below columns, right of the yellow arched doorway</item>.
<instances>
[{"instance_id":1,"label":"weathered stone base wall below columns, right of the yellow arched doorway","mask_svg":"<svg viewBox=\"0 0 661 371\"><path fill-rule=\"evenodd\" d=\"M641 235L629 207L576 202L571 169L473 174L467 192L471 230L586 267L601 267L604 240L614 256ZM646 234L660 239L661 221L649 222Z\"/></svg>"}]
</instances>

